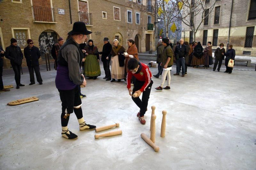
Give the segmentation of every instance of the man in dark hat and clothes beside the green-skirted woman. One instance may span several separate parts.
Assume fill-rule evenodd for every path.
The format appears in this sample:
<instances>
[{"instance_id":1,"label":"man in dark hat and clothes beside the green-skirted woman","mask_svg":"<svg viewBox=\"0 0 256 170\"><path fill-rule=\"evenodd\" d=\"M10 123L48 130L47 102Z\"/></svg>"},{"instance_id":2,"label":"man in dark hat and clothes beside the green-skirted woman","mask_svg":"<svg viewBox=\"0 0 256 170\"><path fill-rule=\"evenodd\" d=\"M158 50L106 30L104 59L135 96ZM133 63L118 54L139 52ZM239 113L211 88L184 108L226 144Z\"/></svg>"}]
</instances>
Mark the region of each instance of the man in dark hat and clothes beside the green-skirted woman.
<instances>
[{"instance_id":1,"label":"man in dark hat and clothes beside the green-skirted woman","mask_svg":"<svg viewBox=\"0 0 256 170\"><path fill-rule=\"evenodd\" d=\"M109 40L107 37L103 39L104 45L102 48L102 52L100 52L101 55L101 61L103 62L103 68L105 71L105 77L103 79L106 79L106 81L111 80L111 73L109 69L109 63L110 63L110 58L108 58L108 55L110 54L112 50L112 46L109 43Z\"/></svg>"}]
</instances>

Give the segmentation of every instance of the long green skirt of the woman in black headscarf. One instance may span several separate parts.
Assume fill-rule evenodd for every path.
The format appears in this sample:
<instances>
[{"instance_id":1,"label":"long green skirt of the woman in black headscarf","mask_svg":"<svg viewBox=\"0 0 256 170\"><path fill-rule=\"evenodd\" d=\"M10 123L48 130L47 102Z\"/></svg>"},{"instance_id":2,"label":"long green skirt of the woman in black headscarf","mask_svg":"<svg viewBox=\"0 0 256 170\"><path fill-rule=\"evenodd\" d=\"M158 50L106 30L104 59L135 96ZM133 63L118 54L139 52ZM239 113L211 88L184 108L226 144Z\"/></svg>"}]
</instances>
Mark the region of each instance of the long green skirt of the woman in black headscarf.
<instances>
[{"instance_id":1,"label":"long green skirt of the woman in black headscarf","mask_svg":"<svg viewBox=\"0 0 256 170\"><path fill-rule=\"evenodd\" d=\"M84 75L95 77L100 74L100 63L97 61L97 56L92 54L87 55L84 62Z\"/></svg>"}]
</instances>

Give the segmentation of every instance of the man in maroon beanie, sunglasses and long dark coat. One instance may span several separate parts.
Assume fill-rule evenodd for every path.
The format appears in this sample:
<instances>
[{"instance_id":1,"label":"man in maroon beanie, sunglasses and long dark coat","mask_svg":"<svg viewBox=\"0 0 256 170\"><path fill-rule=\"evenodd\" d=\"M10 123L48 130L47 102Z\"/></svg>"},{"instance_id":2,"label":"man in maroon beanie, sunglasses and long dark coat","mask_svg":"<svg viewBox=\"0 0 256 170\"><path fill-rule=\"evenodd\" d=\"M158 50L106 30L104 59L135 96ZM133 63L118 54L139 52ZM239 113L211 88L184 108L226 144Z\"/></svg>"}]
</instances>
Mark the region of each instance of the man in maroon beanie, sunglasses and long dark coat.
<instances>
[{"instance_id":1,"label":"man in maroon beanie, sunglasses and long dark coat","mask_svg":"<svg viewBox=\"0 0 256 170\"><path fill-rule=\"evenodd\" d=\"M26 58L28 71L29 71L29 77L30 77L29 85L35 84L34 70L36 73L36 80L41 85L43 84L43 80L41 78L39 61L38 61L38 59L41 56L39 48L34 46L34 42L32 39L28 39L27 43L28 43L28 46L24 48L24 56Z\"/></svg>"}]
</instances>

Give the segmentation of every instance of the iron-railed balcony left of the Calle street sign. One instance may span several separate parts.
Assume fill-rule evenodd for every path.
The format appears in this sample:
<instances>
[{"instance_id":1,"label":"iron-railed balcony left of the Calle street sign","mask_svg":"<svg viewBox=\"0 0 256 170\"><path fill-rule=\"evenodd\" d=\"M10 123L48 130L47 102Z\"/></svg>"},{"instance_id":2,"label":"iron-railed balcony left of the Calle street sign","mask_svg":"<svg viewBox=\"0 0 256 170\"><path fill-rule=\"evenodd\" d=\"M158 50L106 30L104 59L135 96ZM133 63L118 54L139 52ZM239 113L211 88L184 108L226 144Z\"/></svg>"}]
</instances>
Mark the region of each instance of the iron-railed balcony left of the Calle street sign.
<instances>
[{"instance_id":1,"label":"iron-railed balcony left of the Calle street sign","mask_svg":"<svg viewBox=\"0 0 256 170\"><path fill-rule=\"evenodd\" d=\"M43 6L32 6L34 22L49 22L55 23L54 8Z\"/></svg>"}]
</instances>

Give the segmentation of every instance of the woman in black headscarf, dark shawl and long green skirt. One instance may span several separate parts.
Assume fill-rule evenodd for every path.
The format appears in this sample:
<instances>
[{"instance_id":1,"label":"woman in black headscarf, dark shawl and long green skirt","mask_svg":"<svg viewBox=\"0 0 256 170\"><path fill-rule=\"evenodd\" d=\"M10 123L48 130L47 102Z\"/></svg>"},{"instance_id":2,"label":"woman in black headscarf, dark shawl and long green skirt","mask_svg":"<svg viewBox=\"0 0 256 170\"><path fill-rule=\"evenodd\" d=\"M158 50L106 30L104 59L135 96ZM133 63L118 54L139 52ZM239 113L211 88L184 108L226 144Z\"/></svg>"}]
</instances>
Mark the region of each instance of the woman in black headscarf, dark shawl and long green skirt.
<instances>
[{"instance_id":1,"label":"woman in black headscarf, dark shawl and long green skirt","mask_svg":"<svg viewBox=\"0 0 256 170\"><path fill-rule=\"evenodd\" d=\"M88 45L84 47L86 51L85 62L84 62L84 75L89 77L89 79L97 79L100 73L100 56L97 46L93 45L93 41L90 39Z\"/></svg>"}]
</instances>

